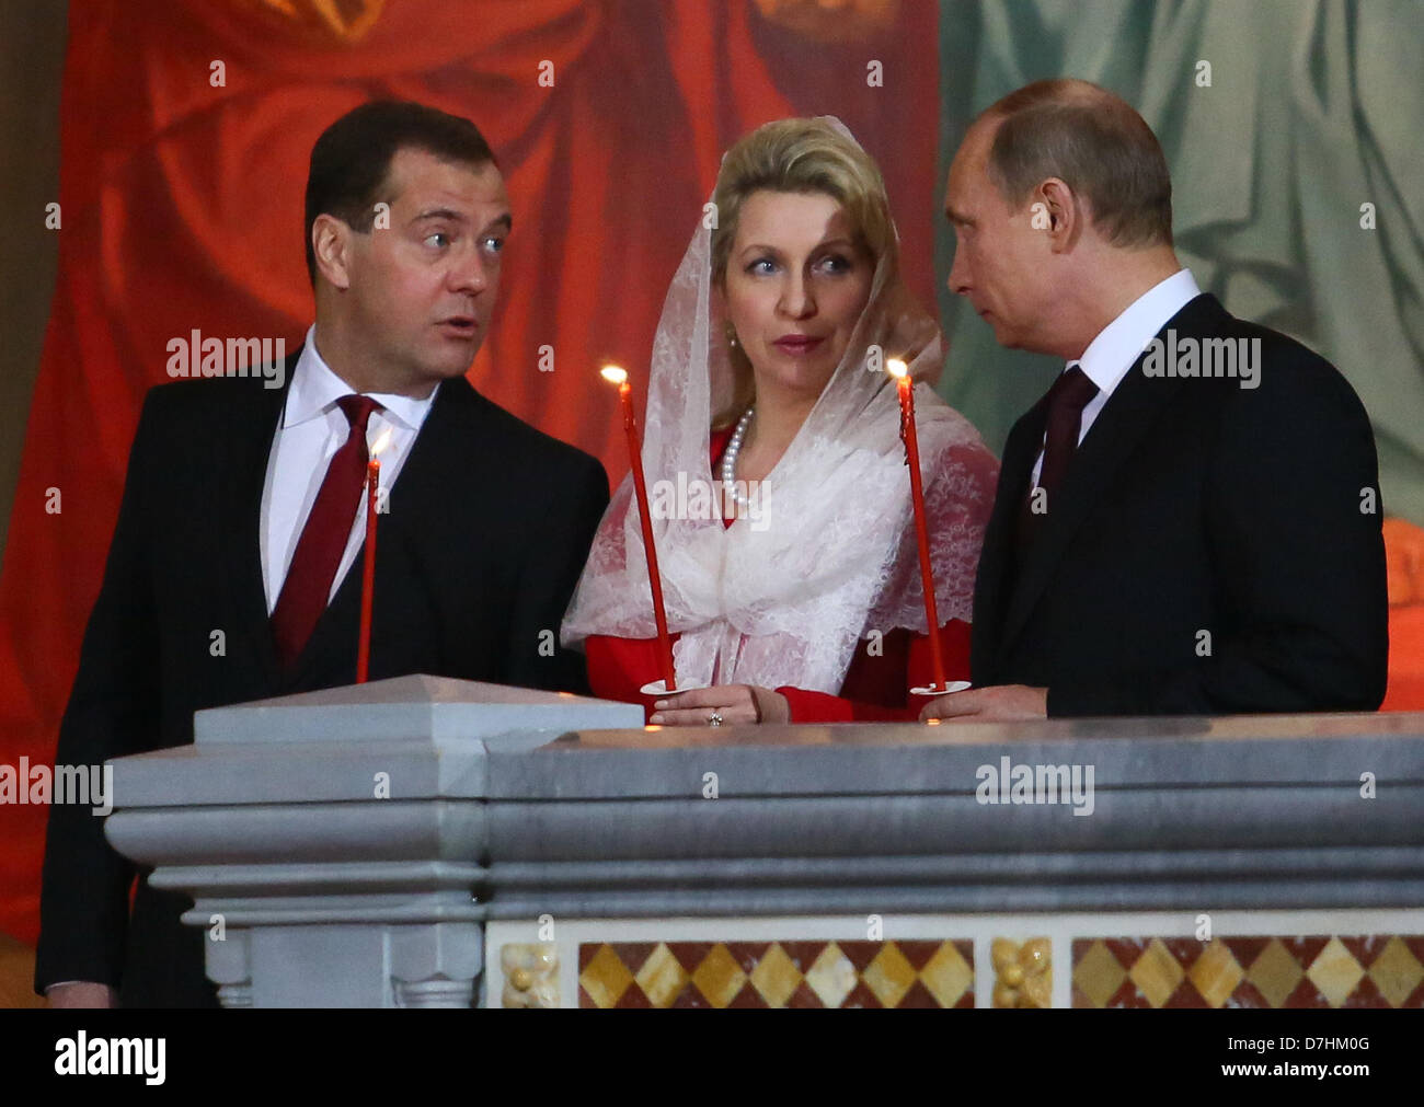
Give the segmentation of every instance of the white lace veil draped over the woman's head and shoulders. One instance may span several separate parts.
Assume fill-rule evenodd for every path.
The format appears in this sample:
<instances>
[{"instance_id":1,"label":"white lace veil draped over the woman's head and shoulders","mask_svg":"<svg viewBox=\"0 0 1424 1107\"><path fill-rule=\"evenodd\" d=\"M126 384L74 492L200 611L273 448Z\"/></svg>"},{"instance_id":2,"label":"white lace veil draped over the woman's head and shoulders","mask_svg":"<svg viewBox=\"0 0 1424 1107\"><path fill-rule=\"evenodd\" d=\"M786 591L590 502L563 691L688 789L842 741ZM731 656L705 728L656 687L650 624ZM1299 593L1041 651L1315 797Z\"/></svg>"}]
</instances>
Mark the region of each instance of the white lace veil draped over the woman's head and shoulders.
<instances>
[{"instance_id":1,"label":"white lace veil draped over the woman's head and shoulders","mask_svg":"<svg viewBox=\"0 0 1424 1107\"><path fill-rule=\"evenodd\" d=\"M884 359L903 359L917 383L933 386L941 346L933 319L889 269L879 259L840 364L760 489L760 518L725 528L721 499L708 497L708 511L695 492L678 492L712 487L709 427L733 398L711 231L693 233L654 340L642 440L668 629L681 635L679 687L790 684L834 694L859 639L926 632L900 406L883 359L871 354L879 347ZM879 367L867 369L867 356ZM968 620L998 467L933 387L914 394L938 616ZM594 538L562 642L655 633L629 474Z\"/></svg>"}]
</instances>

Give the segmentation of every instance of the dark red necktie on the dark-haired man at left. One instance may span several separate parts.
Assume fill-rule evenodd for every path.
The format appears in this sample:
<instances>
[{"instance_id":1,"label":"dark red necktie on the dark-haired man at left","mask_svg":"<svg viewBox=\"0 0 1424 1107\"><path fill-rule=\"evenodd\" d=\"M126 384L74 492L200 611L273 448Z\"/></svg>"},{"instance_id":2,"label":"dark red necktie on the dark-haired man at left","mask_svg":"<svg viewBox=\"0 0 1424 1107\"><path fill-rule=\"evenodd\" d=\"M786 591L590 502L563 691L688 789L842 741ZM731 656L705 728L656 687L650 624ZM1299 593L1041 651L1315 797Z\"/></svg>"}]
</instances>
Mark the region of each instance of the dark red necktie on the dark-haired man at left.
<instances>
[{"instance_id":1,"label":"dark red necktie on the dark-haired man at left","mask_svg":"<svg viewBox=\"0 0 1424 1107\"><path fill-rule=\"evenodd\" d=\"M302 655L316 620L326 610L326 599L336 579L336 569L346 552L356 508L366 484L366 423L380 404L369 396L343 396L336 401L350 423L350 434L332 454L326 477L316 494L306 526L296 541L292 565L282 582L282 593L272 609L272 637L278 659L290 669Z\"/></svg>"}]
</instances>

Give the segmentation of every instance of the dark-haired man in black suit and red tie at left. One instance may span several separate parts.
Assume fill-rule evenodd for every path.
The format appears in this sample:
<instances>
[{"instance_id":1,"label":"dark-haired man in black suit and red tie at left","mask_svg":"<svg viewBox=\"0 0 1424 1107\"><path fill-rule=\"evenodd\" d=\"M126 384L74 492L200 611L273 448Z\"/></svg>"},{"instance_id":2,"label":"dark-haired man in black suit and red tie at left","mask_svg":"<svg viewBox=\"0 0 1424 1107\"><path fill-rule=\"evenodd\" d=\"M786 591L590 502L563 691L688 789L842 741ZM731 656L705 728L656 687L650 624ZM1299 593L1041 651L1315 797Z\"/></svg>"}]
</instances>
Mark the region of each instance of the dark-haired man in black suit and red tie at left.
<instances>
[{"instance_id":1,"label":"dark-haired man in black suit and red tie at left","mask_svg":"<svg viewBox=\"0 0 1424 1107\"><path fill-rule=\"evenodd\" d=\"M355 680L367 435L387 443L370 679L581 687L558 626L607 475L464 378L508 229L468 120L377 102L318 139L316 323L281 388L148 393L58 763L179 746L201 709ZM191 901L147 876L88 808L51 808L36 965L51 1005L215 1005L204 932L179 922Z\"/></svg>"}]
</instances>

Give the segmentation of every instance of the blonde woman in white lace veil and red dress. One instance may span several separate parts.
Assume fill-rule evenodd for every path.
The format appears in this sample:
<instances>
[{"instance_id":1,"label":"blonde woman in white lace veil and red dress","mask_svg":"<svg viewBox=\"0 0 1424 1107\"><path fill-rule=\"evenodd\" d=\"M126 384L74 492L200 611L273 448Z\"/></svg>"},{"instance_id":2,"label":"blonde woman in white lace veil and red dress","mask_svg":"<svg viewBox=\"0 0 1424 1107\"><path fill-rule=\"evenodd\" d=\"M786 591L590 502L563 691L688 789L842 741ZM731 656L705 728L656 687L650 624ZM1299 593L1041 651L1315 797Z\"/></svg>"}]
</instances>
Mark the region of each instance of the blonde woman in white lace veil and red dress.
<instances>
[{"instance_id":1,"label":"blonde woman in white lace veil and red dress","mask_svg":"<svg viewBox=\"0 0 1424 1107\"><path fill-rule=\"evenodd\" d=\"M930 630L968 676L974 573L998 464L916 390L941 627L926 625L900 407L938 329L907 295L884 182L829 118L779 120L722 161L654 340L642 464L678 687L651 721L914 719ZM597 696L659 676L631 475L564 619Z\"/></svg>"}]
</instances>

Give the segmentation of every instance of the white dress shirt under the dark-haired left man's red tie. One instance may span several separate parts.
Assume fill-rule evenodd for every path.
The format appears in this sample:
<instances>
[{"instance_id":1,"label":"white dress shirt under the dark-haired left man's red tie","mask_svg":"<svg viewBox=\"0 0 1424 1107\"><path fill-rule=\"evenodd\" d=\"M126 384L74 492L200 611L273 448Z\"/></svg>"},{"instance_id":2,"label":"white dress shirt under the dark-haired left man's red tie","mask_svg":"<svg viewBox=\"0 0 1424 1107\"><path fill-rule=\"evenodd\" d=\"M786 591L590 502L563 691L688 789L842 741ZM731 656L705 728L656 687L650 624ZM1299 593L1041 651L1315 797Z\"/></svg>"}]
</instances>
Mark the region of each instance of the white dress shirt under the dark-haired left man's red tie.
<instances>
[{"instance_id":1,"label":"white dress shirt under the dark-haired left man's red tie","mask_svg":"<svg viewBox=\"0 0 1424 1107\"><path fill-rule=\"evenodd\" d=\"M436 386L424 400L392 393L366 393L384 408L370 414L366 424L366 448L369 450L383 431L390 430L390 441L379 455L380 487L386 489L387 497L439 390ZM272 440L266 484L262 488L262 582L266 586L268 615L276 608L276 599L282 595L282 582L296 552L296 541L306 526L306 517L322 488L326 465L350 435L350 423L336 404L340 397L350 394L352 386L322 360L316 349L313 323L306 332L306 344L292 370L292 386L282 410L282 423ZM332 581L328 602L336 595L342 579L355 563L365 538L366 497L363 495L352 518L346 552Z\"/></svg>"}]
</instances>

